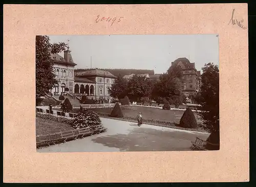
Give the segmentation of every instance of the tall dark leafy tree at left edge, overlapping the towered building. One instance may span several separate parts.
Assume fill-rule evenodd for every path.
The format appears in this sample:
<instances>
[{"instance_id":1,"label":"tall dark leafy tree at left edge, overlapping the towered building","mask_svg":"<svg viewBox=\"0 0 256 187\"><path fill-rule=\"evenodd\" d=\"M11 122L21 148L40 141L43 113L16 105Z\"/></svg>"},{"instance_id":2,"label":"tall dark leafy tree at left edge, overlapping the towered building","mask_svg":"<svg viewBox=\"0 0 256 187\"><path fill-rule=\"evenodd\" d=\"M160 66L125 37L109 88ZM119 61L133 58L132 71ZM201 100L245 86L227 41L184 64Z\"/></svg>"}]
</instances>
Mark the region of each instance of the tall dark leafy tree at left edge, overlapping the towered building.
<instances>
[{"instance_id":1,"label":"tall dark leafy tree at left edge, overlapping the towered building","mask_svg":"<svg viewBox=\"0 0 256 187\"><path fill-rule=\"evenodd\" d=\"M36 36L35 69L36 69L36 97L44 96L57 81L54 79L53 60L51 54L65 50L65 43L50 43L48 36Z\"/></svg>"}]
</instances>

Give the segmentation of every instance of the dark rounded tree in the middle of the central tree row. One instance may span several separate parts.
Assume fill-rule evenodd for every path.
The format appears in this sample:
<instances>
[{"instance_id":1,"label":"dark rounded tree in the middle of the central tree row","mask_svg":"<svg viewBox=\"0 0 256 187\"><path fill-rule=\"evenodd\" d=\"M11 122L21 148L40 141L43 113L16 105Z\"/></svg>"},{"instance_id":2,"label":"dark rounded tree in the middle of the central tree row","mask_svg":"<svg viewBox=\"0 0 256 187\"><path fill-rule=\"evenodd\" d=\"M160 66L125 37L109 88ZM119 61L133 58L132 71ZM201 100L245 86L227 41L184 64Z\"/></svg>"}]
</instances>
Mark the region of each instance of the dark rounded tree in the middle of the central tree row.
<instances>
[{"instance_id":1,"label":"dark rounded tree in the middle of the central tree row","mask_svg":"<svg viewBox=\"0 0 256 187\"><path fill-rule=\"evenodd\" d=\"M150 97L152 88L150 78L134 75L127 84L127 96L132 101L138 101L141 97Z\"/></svg>"}]
</instances>

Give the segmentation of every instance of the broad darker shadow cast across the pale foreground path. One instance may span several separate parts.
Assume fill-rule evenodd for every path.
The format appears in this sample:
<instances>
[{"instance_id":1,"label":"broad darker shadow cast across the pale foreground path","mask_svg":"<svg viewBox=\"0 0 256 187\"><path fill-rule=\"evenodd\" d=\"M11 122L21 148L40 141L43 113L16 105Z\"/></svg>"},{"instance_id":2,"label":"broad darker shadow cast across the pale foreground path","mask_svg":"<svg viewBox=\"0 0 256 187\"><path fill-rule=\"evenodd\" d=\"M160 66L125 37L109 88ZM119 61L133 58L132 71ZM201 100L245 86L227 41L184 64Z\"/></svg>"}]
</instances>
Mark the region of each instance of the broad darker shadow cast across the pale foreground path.
<instances>
[{"instance_id":1,"label":"broad darker shadow cast across the pale foreground path","mask_svg":"<svg viewBox=\"0 0 256 187\"><path fill-rule=\"evenodd\" d=\"M191 141L195 141L196 137L204 140L208 135L141 127L133 129L127 135L103 136L91 141L120 151L188 151Z\"/></svg>"}]
</instances>

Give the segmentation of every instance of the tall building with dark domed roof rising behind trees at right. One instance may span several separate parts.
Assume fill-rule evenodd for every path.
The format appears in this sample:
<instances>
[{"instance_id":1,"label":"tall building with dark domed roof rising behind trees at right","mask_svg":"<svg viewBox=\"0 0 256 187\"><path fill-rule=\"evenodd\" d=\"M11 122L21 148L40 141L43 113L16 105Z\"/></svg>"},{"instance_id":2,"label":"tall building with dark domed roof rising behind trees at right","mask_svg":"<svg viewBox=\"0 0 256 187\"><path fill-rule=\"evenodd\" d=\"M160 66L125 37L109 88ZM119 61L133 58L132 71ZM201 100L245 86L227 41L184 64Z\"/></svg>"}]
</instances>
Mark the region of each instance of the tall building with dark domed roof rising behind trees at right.
<instances>
[{"instance_id":1,"label":"tall building with dark domed roof rising behind trees at right","mask_svg":"<svg viewBox=\"0 0 256 187\"><path fill-rule=\"evenodd\" d=\"M182 72L182 92L185 95L197 93L201 87L201 72L195 68L195 63L190 63L186 58L179 58L172 62L171 67L178 67Z\"/></svg>"}]
</instances>

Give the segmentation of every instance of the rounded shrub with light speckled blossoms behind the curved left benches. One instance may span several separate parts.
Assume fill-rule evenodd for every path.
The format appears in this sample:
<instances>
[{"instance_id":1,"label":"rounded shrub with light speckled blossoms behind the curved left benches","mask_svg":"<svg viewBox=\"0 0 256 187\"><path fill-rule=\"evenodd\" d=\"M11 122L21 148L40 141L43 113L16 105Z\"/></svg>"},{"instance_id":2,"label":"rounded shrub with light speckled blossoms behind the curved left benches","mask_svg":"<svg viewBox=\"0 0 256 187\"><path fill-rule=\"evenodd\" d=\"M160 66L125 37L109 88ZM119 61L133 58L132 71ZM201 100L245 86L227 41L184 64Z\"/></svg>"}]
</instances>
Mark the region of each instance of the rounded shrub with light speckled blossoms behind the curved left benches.
<instances>
[{"instance_id":1,"label":"rounded shrub with light speckled blossoms behind the curved left benches","mask_svg":"<svg viewBox=\"0 0 256 187\"><path fill-rule=\"evenodd\" d=\"M77 116L74 119L73 128L85 128L85 127L92 127L94 129L94 126L100 125L101 120L97 113L89 110L89 109L83 109L81 110Z\"/></svg>"}]
</instances>

